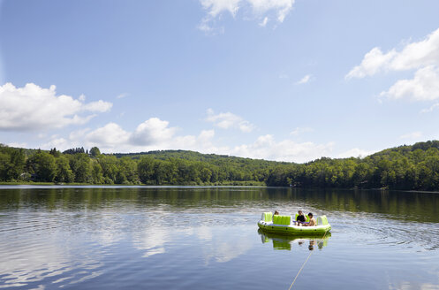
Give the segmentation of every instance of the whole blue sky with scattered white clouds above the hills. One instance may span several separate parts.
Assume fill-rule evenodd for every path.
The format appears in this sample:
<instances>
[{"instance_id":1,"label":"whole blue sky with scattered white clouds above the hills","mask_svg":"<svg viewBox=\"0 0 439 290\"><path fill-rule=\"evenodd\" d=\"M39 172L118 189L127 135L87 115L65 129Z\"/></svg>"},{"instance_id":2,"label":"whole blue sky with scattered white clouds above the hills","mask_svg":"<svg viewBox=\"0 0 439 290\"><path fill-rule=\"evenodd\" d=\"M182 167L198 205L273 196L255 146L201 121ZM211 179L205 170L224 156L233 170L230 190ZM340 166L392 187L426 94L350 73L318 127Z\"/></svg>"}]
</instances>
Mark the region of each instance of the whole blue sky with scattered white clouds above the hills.
<instances>
[{"instance_id":1,"label":"whole blue sky with scattered white clouds above the hills","mask_svg":"<svg viewBox=\"0 0 439 290\"><path fill-rule=\"evenodd\" d=\"M438 1L0 0L0 143L304 163L439 139Z\"/></svg>"}]
</instances>

